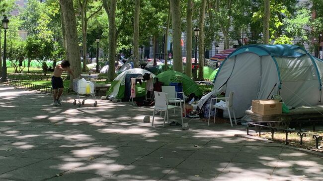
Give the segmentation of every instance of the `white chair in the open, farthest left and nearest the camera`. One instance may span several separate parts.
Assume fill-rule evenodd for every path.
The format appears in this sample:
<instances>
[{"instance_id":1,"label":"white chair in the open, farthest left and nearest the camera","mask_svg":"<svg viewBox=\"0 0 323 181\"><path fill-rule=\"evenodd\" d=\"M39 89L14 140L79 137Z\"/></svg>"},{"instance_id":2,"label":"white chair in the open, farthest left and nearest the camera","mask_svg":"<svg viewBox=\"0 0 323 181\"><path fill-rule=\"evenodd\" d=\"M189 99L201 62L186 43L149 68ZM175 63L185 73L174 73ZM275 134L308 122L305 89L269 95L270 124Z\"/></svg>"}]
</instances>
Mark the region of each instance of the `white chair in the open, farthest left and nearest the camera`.
<instances>
[{"instance_id":1,"label":"white chair in the open, farthest left and nearest the camera","mask_svg":"<svg viewBox=\"0 0 323 181\"><path fill-rule=\"evenodd\" d=\"M167 93L154 91L154 94L155 94L155 106L154 106L152 126L154 126L155 110L157 110L157 111L165 111L164 121L162 123L162 127L164 127L165 120L166 120L166 115L167 115L167 123L169 123L168 110L169 109L175 109L178 106L168 105ZM180 103L180 106L181 106L181 103ZM183 125L183 116L182 116L182 114L183 113L182 113L182 110L181 110L180 111L180 118L182 119L182 125Z\"/></svg>"}]
</instances>

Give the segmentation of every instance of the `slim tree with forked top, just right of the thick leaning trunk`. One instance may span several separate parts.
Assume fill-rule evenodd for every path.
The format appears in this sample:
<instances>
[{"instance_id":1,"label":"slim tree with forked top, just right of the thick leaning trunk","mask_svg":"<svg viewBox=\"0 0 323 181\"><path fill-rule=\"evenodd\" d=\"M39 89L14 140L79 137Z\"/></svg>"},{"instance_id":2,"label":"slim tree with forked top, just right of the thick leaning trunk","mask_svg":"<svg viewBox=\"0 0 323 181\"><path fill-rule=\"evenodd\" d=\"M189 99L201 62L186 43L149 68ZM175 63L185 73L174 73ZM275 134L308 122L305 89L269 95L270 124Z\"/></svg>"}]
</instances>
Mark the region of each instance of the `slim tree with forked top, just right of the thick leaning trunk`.
<instances>
[{"instance_id":1,"label":"slim tree with forked top, just right of the thick leaning trunk","mask_svg":"<svg viewBox=\"0 0 323 181\"><path fill-rule=\"evenodd\" d=\"M90 1L90 2L89 2ZM93 17L96 13L98 13L102 9L102 4L98 5L98 7L89 6L88 4L94 4L93 0L78 0L79 2L79 9L81 12L81 26L82 26L82 59L83 59L83 66L82 71L85 71L86 67L86 33L87 33L87 22L88 20ZM90 11L89 16L87 16L87 11ZM93 11L93 12L91 12Z\"/></svg>"}]
</instances>

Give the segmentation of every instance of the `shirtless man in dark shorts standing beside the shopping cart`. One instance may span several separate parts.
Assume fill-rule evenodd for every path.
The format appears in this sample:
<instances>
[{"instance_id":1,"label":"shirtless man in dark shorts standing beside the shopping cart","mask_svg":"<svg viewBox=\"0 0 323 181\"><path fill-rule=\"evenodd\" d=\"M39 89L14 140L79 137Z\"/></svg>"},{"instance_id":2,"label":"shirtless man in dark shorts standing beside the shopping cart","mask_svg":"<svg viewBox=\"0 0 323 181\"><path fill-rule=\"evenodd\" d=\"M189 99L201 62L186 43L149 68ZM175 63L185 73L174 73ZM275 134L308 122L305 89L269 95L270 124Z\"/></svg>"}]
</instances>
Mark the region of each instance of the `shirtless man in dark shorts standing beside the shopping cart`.
<instances>
[{"instance_id":1,"label":"shirtless man in dark shorts standing beside the shopping cart","mask_svg":"<svg viewBox=\"0 0 323 181\"><path fill-rule=\"evenodd\" d=\"M61 64L58 64L55 67L54 75L52 76L52 87L54 89L54 106L61 105L60 97L62 95L64 86L63 86L63 79L61 78L61 75L63 71L68 71L74 77L73 70L70 68L70 62L67 60L63 60Z\"/></svg>"}]
</instances>

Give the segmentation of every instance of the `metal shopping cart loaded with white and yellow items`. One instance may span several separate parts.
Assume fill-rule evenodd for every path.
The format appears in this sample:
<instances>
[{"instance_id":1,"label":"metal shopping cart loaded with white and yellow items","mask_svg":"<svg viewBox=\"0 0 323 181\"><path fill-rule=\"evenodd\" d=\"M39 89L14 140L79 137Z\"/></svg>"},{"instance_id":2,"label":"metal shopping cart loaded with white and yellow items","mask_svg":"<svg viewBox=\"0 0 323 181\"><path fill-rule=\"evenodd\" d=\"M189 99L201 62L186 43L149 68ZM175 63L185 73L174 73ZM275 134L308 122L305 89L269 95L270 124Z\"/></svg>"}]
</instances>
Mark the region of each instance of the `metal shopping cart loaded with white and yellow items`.
<instances>
[{"instance_id":1,"label":"metal shopping cart loaded with white and yellow items","mask_svg":"<svg viewBox=\"0 0 323 181\"><path fill-rule=\"evenodd\" d=\"M97 74L81 74L79 78L73 80L73 90L77 93L77 99L74 99L73 105L76 105L78 102L78 107L81 107L81 105L84 105L87 97L80 95L91 95L94 101L93 106L96 107L95 83L91 80L95 80L97 76Z\"/></svg>"}]
</instances>

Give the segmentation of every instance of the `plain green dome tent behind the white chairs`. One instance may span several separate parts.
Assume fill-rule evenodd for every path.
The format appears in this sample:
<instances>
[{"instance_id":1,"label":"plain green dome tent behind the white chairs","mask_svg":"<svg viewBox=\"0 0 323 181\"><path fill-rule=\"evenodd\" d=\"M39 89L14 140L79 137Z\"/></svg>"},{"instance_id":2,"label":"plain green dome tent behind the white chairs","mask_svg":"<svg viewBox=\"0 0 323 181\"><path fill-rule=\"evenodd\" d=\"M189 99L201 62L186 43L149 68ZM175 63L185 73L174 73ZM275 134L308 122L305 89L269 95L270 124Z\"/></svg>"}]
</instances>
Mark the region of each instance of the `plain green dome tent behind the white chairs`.
<instances>
[{"instance_id":1,"label":"plain green dome tent behind the white chairs","mask_svg":"<svg viewBox=\"0 0 323 181\"><path fill-rule=\"evenodd\" d=\"M160 82L163 82L165 86L168 86L171 82L182 82L183 92L185 95L194 93L195 96L202 96L202 91L192 78L174 70L164 71L156 76Z\"/></svg>"}]
</instances>

